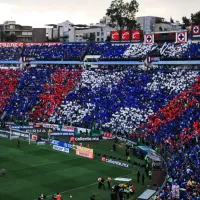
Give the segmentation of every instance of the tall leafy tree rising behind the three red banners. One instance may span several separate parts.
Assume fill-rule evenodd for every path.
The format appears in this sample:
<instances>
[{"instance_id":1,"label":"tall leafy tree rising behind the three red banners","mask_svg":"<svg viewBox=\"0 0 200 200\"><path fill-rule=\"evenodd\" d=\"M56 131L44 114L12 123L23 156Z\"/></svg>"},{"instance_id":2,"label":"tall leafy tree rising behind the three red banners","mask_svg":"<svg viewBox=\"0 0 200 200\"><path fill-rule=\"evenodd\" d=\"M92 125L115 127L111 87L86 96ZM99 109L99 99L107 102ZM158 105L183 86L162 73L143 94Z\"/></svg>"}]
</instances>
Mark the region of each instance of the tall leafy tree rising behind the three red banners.
<instances>
[{"instance_id":1,"label":"tall leafy tree rising behind the three red banners","mask_svg":"<svg viewBox=\"0 0 200 200\"><path fill-rule=\"evenodd\" d=\"M125 3L123 0L113 0L110 7L107 9L106 15L111 18L111 26L124 29L133 29L136 27L135 14L138 12L137 0L131 0L130 3Z\"/></svg>"}]
</instances>

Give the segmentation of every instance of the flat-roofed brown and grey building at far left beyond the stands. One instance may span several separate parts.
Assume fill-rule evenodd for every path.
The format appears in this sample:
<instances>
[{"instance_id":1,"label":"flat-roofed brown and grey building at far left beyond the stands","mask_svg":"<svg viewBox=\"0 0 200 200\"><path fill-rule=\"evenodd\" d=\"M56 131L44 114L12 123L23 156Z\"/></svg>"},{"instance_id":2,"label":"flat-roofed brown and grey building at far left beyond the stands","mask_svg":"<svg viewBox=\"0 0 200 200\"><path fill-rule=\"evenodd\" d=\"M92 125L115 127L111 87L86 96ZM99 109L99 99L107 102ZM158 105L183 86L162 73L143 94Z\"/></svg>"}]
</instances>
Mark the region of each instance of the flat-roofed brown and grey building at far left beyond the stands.
<instances>
[{"instance_id":1,"label":"flat-roofed brown and grey building at far left beyond the stands","mask_svg":"<svg viewBox=\"0 0 200 200\"><path fill-rule=\"evenodd\" d=\"M1 41L5 42L9 36L13 36L11 42L45 42L46 29L22 26L15 21L6 21L0 25Z\"/></svg>"}]
</instances>

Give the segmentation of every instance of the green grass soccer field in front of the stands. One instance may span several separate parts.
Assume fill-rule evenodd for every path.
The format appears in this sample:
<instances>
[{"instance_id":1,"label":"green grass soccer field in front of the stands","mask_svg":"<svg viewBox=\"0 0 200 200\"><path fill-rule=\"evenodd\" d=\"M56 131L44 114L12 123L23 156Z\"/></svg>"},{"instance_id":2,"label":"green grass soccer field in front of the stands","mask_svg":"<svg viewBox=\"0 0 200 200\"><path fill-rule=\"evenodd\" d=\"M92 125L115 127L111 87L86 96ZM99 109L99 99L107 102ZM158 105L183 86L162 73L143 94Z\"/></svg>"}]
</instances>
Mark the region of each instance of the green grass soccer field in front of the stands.
<instances>
[{"instance_id":1,"label":"green grass soccer field in front of the stands","mask_svg":"<svg viewBox=\"0 0 200 200\"><path fill-rule=\"evenodd\" d=\"M124 156L124 149L117 146L117 152L111 152L112 143L102 141L91 143L96 152L111 156ZM21 142L17 148L17 141L0 139L0 168L7 170L6 176L0 179L0 199L2 200L36 200L39 194L45 194L51 199L52 194L60 192L63 200L89 200L92 194L97 200L110 200L111 191L99 190L97 178L107 179L127 177L133 179L136 193L130 199L136 199L149 184L145 186L136 183L137 168L122 168L101 162L100 156L94 160L52 150L52 146L28 145ZM142 169L143 170L143 169Z\"/></svg>"}]
</instances>

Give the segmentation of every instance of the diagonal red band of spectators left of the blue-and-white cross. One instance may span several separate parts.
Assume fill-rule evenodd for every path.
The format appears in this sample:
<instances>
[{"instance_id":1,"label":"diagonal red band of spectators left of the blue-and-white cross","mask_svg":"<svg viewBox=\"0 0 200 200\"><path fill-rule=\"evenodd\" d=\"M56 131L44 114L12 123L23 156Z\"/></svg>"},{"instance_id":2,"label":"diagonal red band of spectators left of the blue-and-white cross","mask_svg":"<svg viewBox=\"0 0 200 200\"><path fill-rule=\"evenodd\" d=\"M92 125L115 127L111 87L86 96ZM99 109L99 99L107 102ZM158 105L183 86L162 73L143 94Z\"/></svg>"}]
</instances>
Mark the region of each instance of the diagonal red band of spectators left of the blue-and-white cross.
<instances>
[{"instance_id":1,"label":"diagonal red band of spectators left of the blue-and-white cross","mask_svg":"<svg viewBox=\"0 0 200 200\"><path fill-rule=\"evenodd\" d=\"M58 67L50 82L44 84L44 91L29 115L31 121L48 121L48 117L59 109L66 95L74 88L81 76L79 67Z\"/></svg>"}]
</instances>

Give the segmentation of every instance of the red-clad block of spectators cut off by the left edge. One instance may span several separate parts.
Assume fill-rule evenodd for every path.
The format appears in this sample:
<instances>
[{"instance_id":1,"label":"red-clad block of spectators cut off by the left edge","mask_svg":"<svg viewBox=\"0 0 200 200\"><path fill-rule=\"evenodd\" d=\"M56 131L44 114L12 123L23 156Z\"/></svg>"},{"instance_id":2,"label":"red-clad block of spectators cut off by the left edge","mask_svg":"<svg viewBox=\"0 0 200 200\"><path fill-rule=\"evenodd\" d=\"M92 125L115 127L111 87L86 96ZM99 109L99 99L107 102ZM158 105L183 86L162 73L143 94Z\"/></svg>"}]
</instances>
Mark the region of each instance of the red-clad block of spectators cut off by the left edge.
<instances>
[{"instance_id":1,"label":"red-clad block of spectators cut off by the left edge","mask_svg":"<svg viewBox=\"0 0 200 200\"><path fill-rule=\"evenodd\" d=\"M0 68L0 116L14 93L21 74L22 71L18 68Z\"/></svg>"}]
</instances>

